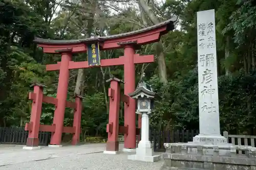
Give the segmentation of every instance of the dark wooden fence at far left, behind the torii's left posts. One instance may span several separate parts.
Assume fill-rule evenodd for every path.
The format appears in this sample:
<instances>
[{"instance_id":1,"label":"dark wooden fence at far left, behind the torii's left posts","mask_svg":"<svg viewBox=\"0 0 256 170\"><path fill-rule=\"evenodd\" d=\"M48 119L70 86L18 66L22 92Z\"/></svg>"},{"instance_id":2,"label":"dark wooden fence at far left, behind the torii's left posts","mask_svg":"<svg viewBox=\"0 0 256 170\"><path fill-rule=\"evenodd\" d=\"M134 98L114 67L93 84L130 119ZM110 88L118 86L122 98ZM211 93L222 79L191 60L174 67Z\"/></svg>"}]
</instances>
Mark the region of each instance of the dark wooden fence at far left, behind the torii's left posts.
<instances>
[{"instance_id":1,"label":"dark wooden fence at far left, behind the torii's left posts","mask_svg":"<svg viewBox=\"0 0 256 170\"><path fill-rule=\"evenodd\" d=\"M26 144L28 131L24 128L0 127L0 143L2 144ZM51 132L39 132L39 145L47 146L50 142Z\"/></svg>"}]
</instances>

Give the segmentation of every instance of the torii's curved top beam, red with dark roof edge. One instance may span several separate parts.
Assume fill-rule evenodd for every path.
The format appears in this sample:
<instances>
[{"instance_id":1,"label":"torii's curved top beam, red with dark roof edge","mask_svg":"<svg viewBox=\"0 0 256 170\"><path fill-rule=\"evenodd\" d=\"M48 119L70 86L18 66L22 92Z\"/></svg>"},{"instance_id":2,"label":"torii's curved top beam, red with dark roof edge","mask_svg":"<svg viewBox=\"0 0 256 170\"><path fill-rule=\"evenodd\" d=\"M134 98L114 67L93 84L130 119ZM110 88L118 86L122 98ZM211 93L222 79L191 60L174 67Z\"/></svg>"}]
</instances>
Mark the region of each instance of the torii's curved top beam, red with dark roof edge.
<instances>
[{"instance_id":1,"label":"torii's curved top beam, red with dark roof edge","mask_svg":"<svg viewBox=\"0 0 256 170\"><path fill-rule=\"evenodd\" d=\"M100 43L101 50L113 50L122 48L122 44L124 43L144 45L157 42L163 34L174 29L174 22L177 19L178 17L173 17L151 27L105 37L76 40L50 40L35 37L34 42L43 48L44 53L59 53L59 50L67 50L68 48L72 50L72 53L84 53L87 51L86 44L94 42Z\"/></svg>"}]
</instances>

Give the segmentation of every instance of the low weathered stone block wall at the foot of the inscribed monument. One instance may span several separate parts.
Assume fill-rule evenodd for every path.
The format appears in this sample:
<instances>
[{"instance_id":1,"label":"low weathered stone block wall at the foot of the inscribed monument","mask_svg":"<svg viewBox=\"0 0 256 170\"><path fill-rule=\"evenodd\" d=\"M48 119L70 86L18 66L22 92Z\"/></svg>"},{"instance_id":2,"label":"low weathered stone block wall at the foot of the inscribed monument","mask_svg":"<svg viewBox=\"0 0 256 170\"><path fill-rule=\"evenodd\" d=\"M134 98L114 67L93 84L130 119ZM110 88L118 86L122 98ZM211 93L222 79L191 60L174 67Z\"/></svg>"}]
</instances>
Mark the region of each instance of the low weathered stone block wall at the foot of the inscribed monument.
<instances>
[{"instance_id":1,"label":"low weathered stone block wall at the foot of the inscribed monument","mask_svg":"<svg viewBox=\"0 0 256 170\"><path fill-rule=\"evenodd\" d=\"M196 143L164 143L164 165L161 170L194 169L194 170L255 170L256 148L241 145L212 145ZM190 152L190 150L195 152ZM212 153L206 152L212 150ZM225 155L220 151L225 150ZM245 151L245 155L237 154Z\"/></svg>"}]
</instances>

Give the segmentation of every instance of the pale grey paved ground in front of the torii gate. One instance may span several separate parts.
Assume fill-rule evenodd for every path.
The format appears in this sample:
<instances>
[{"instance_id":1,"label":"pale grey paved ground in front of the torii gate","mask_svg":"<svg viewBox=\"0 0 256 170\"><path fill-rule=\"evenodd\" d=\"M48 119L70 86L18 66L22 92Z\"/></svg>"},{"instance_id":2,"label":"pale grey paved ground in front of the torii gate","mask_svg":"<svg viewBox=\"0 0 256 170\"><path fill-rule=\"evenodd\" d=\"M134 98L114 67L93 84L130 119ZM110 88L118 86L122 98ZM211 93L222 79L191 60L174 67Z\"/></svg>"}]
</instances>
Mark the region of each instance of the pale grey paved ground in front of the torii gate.
<instances>
[{"instance_id":1,"label":"pale grey paved ground in front of the torii gate","mask_svg":"<svg viewBox=\"0 0 256 170\"><path fill-rule=\"evenodd\" d=\"M120 149L122 145L120 145ZM0 145L0 169L39 169L39 170L158 170L159 162L127 160L127 154L103 154L105 144L83 144L63 148L44 147L41 150L27 151L19 145Z\"/></svg>"}]
</instances>

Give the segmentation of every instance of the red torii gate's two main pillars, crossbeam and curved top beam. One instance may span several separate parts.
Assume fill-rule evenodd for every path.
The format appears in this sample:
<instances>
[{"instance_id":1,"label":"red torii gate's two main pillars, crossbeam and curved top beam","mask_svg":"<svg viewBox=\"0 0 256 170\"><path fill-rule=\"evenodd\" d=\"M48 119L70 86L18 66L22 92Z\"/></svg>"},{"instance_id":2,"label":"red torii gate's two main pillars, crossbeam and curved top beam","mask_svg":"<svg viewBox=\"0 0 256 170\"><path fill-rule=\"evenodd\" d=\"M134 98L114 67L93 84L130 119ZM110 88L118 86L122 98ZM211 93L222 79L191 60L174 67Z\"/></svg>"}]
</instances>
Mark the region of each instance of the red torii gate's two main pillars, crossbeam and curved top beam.
<instances>
[{"instance_id":1,"label":"red torii gate's two main pillars, crossbeam and curved top beam","mask_svg":"<svg viewBox=\"0 0 256 170\"><path fill-rule=\"evenodd\" d=\"M135 90L135 64L154 62L154 56L140 56L139 54L135 54L135 50L140 45L159 41L163 34L166 34L168 31L174 29L174 22L176 20L177 17L174 17L152 27L147 27L129 33L97 38L49 40L36 37L34 42L43 48L44 53L61 54L60 62L57 62L57 64L46 65L47 71L59 70L56 97L57 103L53 118L55 131L52 134L50 144L59 145L61 142L61 134L63 133L63 119L65 115L68 92L69 70L92 67L88 65L88 61L72 61L72 54L85 53L87 52L87 44L99 43L100 50L114 50L118 48L124 49L124 56L114 59L102 59L100 60L100 65L98 66L105 67L112 65L124 65L124 96L126 96L125 100L129 100L129 102L126 102L124 106L124 127L127 128L127 132L124 135L124 148L136 148L136 103L135 100L130 98L127 94ZM127 105L127 103L129 103L129 105ZM80 125L73 126L80 129ZM139 117L138 128L141 128L140 126L141 118ZM31 131L33 132L33 128ZM29 138L28 140L30 140Z\"/></svg>"}]
</instances>

